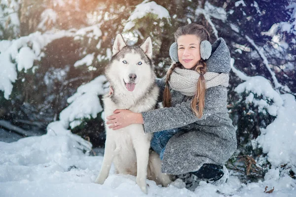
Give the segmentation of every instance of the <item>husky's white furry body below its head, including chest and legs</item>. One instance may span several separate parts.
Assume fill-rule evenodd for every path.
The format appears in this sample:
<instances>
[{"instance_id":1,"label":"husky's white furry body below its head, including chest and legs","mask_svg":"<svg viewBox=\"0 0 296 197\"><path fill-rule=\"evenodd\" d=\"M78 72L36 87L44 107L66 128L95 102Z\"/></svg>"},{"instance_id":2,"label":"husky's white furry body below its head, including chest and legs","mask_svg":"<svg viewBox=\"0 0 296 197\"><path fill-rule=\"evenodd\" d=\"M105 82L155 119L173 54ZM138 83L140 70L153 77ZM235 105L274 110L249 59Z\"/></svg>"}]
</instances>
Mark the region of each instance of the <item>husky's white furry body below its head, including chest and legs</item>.
<instances>
[{"instance_id":1,"label":"husky's white furry body below its head, including chest and legs","mask_svg":"<svg viewBox=\"0 0 296 197\"><path fill-rule=\"evenodd\" d=\"M157 99L158 88L155 86L143 102L133 103L129 109L132 112L141 113L152 110ZM106 117L113 115L116 109L126 109L130 102L121 100L116 105L109 96L105 96L105 121ZM145 133L143 124L131 124L118 130L106 127L106 144L102 168L95 183L103 184L109 175L111 162L113 161L116 173L131 174L137 176L136 182L141 190L147 194L146 177L167 186L171 183L172 176L161 173L161 160L159 155L150 151L151 133Z\"/></svg>"}]
</instances>

